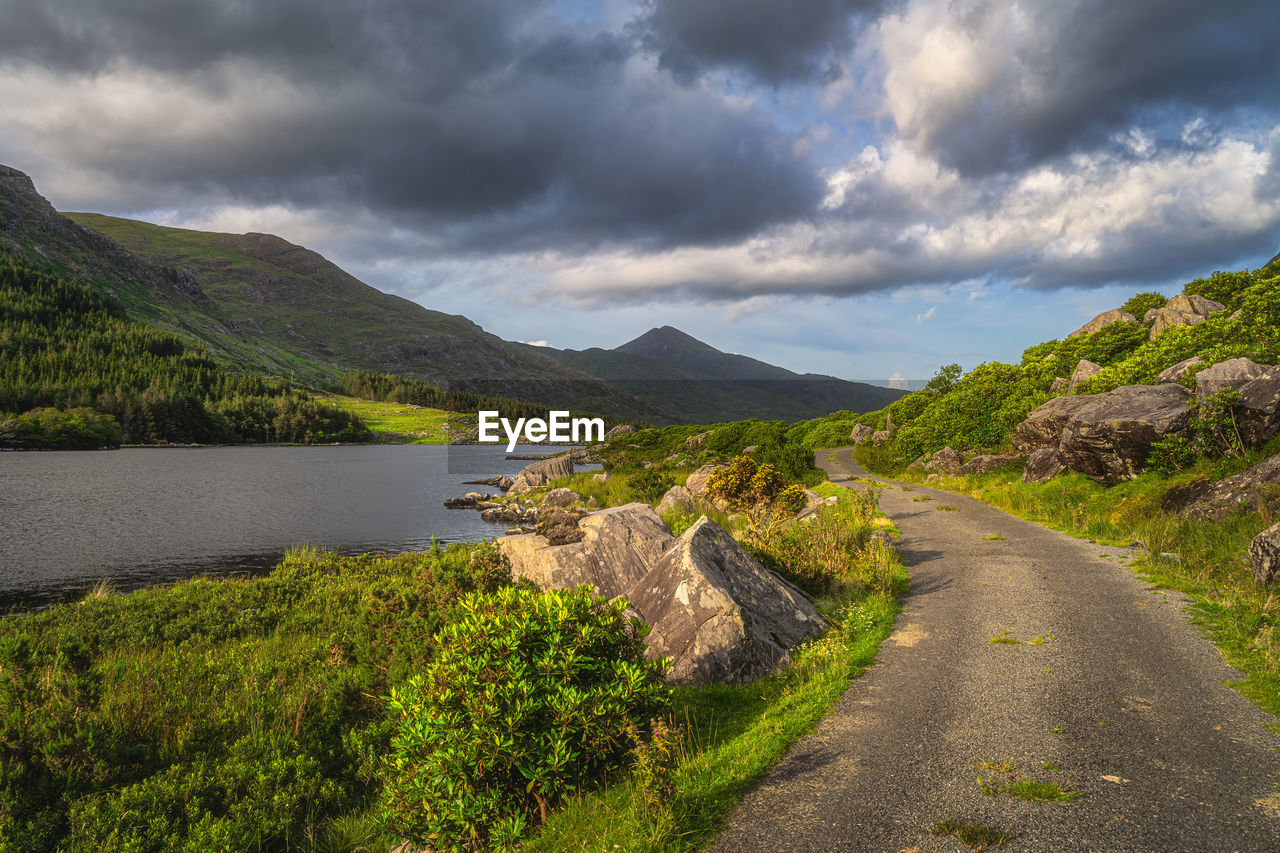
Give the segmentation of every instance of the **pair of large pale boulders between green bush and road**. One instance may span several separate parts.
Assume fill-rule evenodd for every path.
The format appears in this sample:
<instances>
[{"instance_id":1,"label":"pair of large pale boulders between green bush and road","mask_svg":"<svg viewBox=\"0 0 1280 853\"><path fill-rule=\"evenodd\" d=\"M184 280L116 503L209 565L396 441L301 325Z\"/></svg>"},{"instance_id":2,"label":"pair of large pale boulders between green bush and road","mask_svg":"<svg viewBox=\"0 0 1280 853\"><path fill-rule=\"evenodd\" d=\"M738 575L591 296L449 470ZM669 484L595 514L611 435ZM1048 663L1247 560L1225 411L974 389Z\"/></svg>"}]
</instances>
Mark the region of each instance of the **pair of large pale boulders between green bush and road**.
<instances>
[{"instance_id":1,"label":"pair of large pale boulders between green bush and road","mask_svg":"<svg viewBox=\"0 0 1280 853\"><path fill-rule=\"evenodd\" d=\"M746 681L772 672L827 622L800 590L768 571L714 523L700 519L678 539L644 503L593 512L582 539L552 546L538 534L498 547L517 578L540 587L590 584L626 596L652 626L650 658L671 657L677 683Z\"/></svg>"}]
</instances>

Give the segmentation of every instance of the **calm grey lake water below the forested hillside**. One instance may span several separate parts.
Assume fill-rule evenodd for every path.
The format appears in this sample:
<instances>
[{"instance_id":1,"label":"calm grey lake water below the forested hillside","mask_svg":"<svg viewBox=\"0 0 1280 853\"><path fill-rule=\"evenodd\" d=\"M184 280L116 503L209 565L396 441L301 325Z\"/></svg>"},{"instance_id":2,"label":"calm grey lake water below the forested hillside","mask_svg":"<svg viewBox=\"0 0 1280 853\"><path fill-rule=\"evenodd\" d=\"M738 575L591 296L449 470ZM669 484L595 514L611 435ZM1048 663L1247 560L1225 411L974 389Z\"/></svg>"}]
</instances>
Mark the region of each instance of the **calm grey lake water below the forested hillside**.
<instances>
[{"instance_id":1,"label":"calm grey lake water below the forested hillside","mask_svg":"<svg viewBox=\"0 0 1280 853\"><path fill-rule=\"evenodd\" d=\"M0 612L104 578L131 589L261 574L305 543L398 552L502 535L508 525L442 502L529 464L504 457L489 444L0 453Z\"/></svg>"}]
</instances>

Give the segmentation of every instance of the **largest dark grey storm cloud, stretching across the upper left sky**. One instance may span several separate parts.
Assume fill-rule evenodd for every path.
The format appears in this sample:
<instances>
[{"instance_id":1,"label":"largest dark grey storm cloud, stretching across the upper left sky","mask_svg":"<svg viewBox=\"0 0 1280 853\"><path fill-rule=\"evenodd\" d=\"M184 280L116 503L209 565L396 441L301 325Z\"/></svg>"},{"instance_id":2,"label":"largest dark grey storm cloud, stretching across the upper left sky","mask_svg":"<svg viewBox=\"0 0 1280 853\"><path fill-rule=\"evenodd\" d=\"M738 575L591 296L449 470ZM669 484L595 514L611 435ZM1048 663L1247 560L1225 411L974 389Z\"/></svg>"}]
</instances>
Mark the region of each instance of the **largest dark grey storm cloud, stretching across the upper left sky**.
<instances>
[{"instance_id":1,"label":"largest dark grey storm cloud, stretching across the upper left sky","mask_svg":"<svg viewBox=\"0 0 1280 853\"><path fill-rule=\"evenodd\" d=\"M755 108L628 68L630 38L566 31L544 6L9 0L0 63L86 81L141 69L157 91L200 90L191 117L225 117L188 136L67 117L59 145L82 165L355 204L436 228L442 247L717 243L814 209L815 168Z\"/></svg>"}]
</instances>

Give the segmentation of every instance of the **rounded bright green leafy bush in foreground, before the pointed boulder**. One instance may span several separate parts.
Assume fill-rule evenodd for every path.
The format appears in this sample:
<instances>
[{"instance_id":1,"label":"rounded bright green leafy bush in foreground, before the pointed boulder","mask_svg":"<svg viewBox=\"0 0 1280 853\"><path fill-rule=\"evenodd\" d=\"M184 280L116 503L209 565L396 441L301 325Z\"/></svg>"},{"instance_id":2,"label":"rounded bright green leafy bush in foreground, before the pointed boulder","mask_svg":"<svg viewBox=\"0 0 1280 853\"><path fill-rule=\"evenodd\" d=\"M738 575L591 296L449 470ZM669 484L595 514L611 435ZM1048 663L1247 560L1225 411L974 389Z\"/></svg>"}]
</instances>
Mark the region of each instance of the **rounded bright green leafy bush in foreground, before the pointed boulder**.
<instances>
[{"instance_id":1,"label":"rounded bright green leafy bush in foreground, before the pointed boulder","mask_svg":"<svg viewBox=\"0 0 1280 853\"><path fill-rule=\"evenodd\" d=\"M465 598L436 660L392 690L389 827L434 849L508 847L622 767L669 701L626 606L585 587Z\"/></svg>"}]
</instances>

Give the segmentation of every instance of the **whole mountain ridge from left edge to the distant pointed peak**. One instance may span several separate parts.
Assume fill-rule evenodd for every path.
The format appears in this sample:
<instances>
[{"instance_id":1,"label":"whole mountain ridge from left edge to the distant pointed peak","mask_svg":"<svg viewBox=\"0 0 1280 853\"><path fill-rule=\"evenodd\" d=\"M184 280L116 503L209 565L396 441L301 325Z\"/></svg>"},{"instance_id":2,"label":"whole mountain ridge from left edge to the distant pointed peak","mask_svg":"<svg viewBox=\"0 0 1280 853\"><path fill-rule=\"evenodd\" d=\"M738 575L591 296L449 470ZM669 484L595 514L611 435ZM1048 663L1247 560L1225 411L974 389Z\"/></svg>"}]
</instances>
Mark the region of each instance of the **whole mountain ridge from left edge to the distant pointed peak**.
<instances>
[{"instance_id":1,"label":"whole mountain ridge from left edge to the distant pointed peak","mask_svg":"<svg viewBox=\"0 0 1280 853\"><path fill-rule=\"evenodd\" d=\"M28 175L3 165L0 247L91 283L129 316L200 342L233 370L312 386L374 370L652 424L801 420L901 396L722 352L672 327L614 350L503 341L273 234L60 214Z\"/></svg>"}]
</instances>

